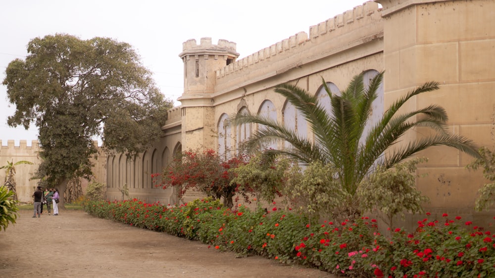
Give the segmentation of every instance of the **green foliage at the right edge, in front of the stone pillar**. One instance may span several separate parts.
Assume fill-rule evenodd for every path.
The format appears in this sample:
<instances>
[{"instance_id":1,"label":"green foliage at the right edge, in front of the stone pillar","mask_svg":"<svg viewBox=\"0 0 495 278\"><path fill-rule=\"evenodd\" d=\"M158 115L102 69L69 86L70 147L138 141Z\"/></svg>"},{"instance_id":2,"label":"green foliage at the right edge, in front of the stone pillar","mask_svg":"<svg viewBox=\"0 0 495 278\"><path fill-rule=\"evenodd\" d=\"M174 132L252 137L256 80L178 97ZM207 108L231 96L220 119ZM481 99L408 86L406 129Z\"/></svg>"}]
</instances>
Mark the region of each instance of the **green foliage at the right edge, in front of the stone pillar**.
<instances>
[{"instance_id":1,"label":"green foliage at the right edge, in front of the stone pillar","mask_svg":"<svg viewBox=\"0 0 495 278\"><path fill-rule=\"evenodd\" d=\"M491 181L486 183L478 191L480 197L476 199L475 209L482 211L488 209L495 202L495 152L486 147L481 147L478 152L481 158L474 159L466 167L473 170L483 168L483 176Z\"/></svg>"}]
</instances>

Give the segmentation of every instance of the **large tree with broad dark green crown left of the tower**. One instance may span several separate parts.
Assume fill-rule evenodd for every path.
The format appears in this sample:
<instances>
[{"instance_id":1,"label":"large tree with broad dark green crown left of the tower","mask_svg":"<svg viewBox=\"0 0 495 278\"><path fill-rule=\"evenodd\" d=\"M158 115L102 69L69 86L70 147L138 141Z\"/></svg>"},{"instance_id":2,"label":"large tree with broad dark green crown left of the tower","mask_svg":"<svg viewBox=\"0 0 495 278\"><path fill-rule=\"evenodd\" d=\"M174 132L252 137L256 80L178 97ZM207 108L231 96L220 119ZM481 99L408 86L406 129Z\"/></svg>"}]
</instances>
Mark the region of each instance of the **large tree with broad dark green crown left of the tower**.
<instances>
[{"instance_id":1,"label":"large tree with broad dark green crown left of the tower","mask_svg":"<svg viewBox=\"0 0 495 278\"><path fill-rule=\"evenodd\" d=\"M132 157L162 134L172 102L128 43L57 34L31 40L27 50L6 69L3 84L16 106L7 123L36 124L43 159L37 176L61 194L71 178L91 176L95 137Z\"/></svg>"}]
</instances>

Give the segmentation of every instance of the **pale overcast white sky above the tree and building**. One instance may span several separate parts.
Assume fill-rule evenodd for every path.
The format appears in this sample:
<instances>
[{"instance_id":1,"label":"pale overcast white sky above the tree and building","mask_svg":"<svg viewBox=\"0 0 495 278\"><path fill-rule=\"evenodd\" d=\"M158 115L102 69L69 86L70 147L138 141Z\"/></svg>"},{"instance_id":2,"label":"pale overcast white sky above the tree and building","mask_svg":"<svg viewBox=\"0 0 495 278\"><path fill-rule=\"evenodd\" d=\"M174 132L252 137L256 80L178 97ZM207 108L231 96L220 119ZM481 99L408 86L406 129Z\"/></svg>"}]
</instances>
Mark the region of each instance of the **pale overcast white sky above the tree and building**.
<instances>
[{"instance_id":1,"label":"pale overcast white sky above the tree and building","mask_svg":"<svg viewBox=\"0 0 495 278\"><path fill-rule=\"evenodd\" d=\"M366 0L9 0L0 2L0 140L38 139L31 124L9 127L15 105L1 84L14 59L25 59L34 38L59 33L88 40L106 37L131 44L153 73L162 94L180 105L183 92L182 43L210 37L236 42L238 59L344 13ZM296 4L297 3L297 4Z\"/></svg>"}]
</instances>

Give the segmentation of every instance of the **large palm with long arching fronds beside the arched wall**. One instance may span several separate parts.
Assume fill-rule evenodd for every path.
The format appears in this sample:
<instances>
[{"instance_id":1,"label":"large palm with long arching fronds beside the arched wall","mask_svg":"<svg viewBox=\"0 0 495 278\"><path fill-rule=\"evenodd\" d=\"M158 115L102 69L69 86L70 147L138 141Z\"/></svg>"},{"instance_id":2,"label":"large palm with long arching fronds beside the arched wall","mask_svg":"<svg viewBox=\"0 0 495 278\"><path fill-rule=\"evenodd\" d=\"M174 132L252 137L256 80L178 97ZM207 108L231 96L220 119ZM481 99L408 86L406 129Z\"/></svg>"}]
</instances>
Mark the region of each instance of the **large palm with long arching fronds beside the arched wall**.
<instances>
[{"instance_id":1,"label":"large palm with long arching fronds beside the arched wall","mask_svg":"<svg viewBox=\"0 0 495 278\"><path fill-rule=\"evenodd\" d=\"M330 96L332 114L327 113L318 103L316 96L304 89L288 83L276 86L275 92L286 97L307 121L314 140L301 137L290 127L263 116L239 114L231 117L231 120L235 125L257 123L260 126L247 142L250 150L262 149L267 143L278 140L289 143L289 147L281 150L264 150L263 155L268 159L283 155L301 164L313 161L330 163L337 169L336 178L342 189L350 196L354 196L359 183L378 165L385 169L391 168L397 162L431 146L449 146L475 158L480 156L472 140L447 133L448 118L444 108L430 105L404 114L397 113L410 98L438 89L438 82L424 83L397 99L364 134L370 122L371 105L378 96L377 90L382 79L383 72L365 88L363 74L355 76L340 96L333 94L323 80L325 91ZM414 119L416 116L421 117ZM418 126L429 127L437 131L436 135L407 145L394 145L407 131ZM387 155L384 156L386 151Z\"/></svg>"}]
</instances>

